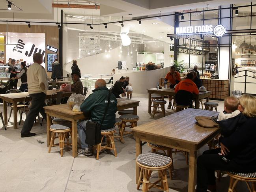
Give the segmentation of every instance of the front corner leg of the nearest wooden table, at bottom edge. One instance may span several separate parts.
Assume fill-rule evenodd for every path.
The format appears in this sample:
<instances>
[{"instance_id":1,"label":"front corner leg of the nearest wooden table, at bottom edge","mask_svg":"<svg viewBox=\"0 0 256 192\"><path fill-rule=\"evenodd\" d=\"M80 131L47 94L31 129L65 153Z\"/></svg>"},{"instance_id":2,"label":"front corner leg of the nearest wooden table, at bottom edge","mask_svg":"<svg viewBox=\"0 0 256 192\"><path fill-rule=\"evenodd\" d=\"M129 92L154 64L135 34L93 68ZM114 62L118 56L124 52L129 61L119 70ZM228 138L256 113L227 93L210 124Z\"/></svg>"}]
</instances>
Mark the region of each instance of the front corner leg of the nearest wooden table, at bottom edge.
<instances>
[{"instance_id":1,"label":"front corner leg of the nearest wooden table, at bottom edge","mask_svg":"<svg viewBox=\"0 0 256 192\"><path fill-rule=\"evenodd\" d=\"M196 151L189 152L189 189L188 192L195 192L196 186Z\"/></svg>"}]
</instances>

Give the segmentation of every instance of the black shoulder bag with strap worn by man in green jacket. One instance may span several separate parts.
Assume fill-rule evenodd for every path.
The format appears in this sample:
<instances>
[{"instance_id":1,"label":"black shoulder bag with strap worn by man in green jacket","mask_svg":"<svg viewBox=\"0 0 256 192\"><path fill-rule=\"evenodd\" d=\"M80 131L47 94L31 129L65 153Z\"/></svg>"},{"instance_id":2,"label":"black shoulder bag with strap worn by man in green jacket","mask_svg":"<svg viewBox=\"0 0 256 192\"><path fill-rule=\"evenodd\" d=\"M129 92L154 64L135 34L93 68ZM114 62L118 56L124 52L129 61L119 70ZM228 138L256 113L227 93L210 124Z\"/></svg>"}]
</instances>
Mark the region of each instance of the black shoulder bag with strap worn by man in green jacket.
<instances>
[{"instance_id":1,"label":"black shoulder bag with strap worn by man in green jacket","mask_svg":"<svg viewBox=\"0 0 256 192\"><path fill-rule=\"evenodd\" d=\"M86 144L88 144L88 145L97 145L101 142L101 125L102 125L102 123L105 119L105 116L107 114L109 103L110 103L110 92L108 91L108 104L107 104L107 107L105 109L105 114L103 116L101 124L99 124L97 122L93 122L93 121L87 121L87 123L86 123L86 130L85 130L85 134L86 134L85 142L86 142Z\"/></svg>"}]
</instances>

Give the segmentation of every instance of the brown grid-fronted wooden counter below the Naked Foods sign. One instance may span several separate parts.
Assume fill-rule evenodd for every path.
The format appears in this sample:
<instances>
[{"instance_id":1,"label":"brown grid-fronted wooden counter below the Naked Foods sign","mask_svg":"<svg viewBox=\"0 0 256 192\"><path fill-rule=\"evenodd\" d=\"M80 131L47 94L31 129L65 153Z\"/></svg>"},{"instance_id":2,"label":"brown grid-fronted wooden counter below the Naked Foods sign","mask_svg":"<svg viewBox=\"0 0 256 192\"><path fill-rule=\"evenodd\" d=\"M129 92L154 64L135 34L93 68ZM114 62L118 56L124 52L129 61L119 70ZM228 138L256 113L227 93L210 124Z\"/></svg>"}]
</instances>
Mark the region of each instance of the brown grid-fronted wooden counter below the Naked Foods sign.
<instances>
[{"instance_id":1,"label":"brown grid-fronted wooden counter below the Naked Foods sign","mask_svg":"<svg viewBox=\"0 0 256 192\"><path fill-rule=\"evenodd\" d=\"M184 79L181 78L181 80ZM229 96L229 80L202 79L202 81L207 91L211 91L210 99L224 100ZM159 85L164 87L164 78L159 79ZM170 87L169 82L167 82L167 87Z\"/></svg>"}]
</instances>

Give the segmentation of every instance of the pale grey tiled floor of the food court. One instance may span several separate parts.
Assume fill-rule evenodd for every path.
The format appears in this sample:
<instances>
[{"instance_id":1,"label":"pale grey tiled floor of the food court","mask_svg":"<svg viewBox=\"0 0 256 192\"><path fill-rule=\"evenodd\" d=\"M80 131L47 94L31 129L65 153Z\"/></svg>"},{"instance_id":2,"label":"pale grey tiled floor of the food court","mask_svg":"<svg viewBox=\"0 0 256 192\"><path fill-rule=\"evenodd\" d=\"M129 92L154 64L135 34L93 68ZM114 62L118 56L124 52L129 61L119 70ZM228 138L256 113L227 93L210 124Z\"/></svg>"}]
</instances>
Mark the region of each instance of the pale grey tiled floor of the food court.
<instances>
[{"instance_id":1,"label":"pale grey tiled floor of the food court","mask_svg":"<svg viewBox=\"0 0 256 192\"><path fill-rule=\"evenodd\" d=\"M138 125L153 121L152 115L148 114L147 95L134 94L133 99L140 101ZM222 110L223 101L215 102L219 103L218 110ZM0 110L3 110L2 104ZM172 113L172 110L167 110L166 115ZM161 117L158 114L155 119ZM9 123L7 130L0 129L1 192L136 192L135 141L132 136L125 136L124 144L115 142L118 152L116 158L112 153L102 153L99 160L93 156L73 158L69 148L65 149L64 157L61 158L59 147L52 147L51 153L48 153L45 121L42 127L39 123L34 124L32 132L37 133L34 137L21 138L21 127L14 130ZM207 146L198 153L201 154L205 149ZM144 145L142 150L150 149ZM156 174L154 176L157 177ZM187 191L188 166L181 153L174 155L173 180L168 183L171 192ZM217 183L217 191L227 192L228 183L229 178L225 175ZM237 192L246 191L245 183L239 183Z\"/></svg>"}]
</instances>

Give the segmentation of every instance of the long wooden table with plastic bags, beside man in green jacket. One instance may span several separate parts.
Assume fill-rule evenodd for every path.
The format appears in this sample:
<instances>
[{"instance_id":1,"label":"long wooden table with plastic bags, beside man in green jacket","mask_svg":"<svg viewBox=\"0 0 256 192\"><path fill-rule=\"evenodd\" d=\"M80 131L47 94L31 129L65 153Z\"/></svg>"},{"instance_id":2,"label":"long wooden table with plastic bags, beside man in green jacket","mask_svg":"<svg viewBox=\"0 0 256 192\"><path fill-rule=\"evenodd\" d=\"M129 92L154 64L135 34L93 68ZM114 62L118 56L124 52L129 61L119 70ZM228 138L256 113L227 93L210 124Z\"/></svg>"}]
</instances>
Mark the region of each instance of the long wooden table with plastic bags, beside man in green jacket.
<instances>
[{"instance_id":1,"label":"long wooden table with plastic bags, beside man in green jacket","mask_svg":"<svg viewBox=\"0 0 256 192\"><path fill-rule=\"evenodd\" d=\"M133 114L137 115L137 107L139 106L139 101L133 101L128 99L117 99L117 110L124 110L133 108ZM67 104L60 104L54 106L45 106L45 113L47 115L47 146L49 147L51 132L49 131L52 125L51 117L60 117L71 121L72 125L72 156L77 157L77 121L88 119L88 116L83 112L73 112L67 106Z\"/></svg>"}]
</instances>

